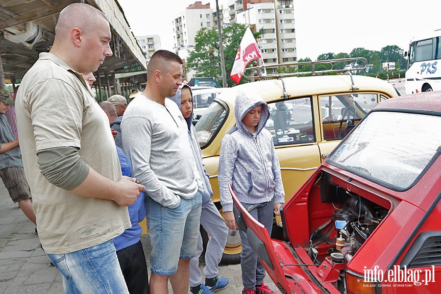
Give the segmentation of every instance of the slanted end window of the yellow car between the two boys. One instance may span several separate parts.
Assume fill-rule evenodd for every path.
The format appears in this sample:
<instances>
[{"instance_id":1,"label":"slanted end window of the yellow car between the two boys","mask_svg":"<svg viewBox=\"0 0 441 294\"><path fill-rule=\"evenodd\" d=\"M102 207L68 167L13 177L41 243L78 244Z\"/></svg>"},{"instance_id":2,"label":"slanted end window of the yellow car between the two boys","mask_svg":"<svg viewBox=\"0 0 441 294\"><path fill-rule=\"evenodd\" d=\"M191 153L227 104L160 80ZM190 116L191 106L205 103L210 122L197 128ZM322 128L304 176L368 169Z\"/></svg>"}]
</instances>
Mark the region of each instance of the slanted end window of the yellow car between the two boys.
<instances>
[{"instance_id":1,"label":"slanted end window of the yellow car between the two boys","mask_svg":"<svg viewBox=\"0 0 441 294\"><path fill-rule=\"evenodd\" d=\"M207 146L211 142L213 136L221 128L225 115L225 107L217 101L211 103L204 112L204 115L195 125L197 140L199 141L199 146L201 148Z\"/></svg>"}]
</instances>

